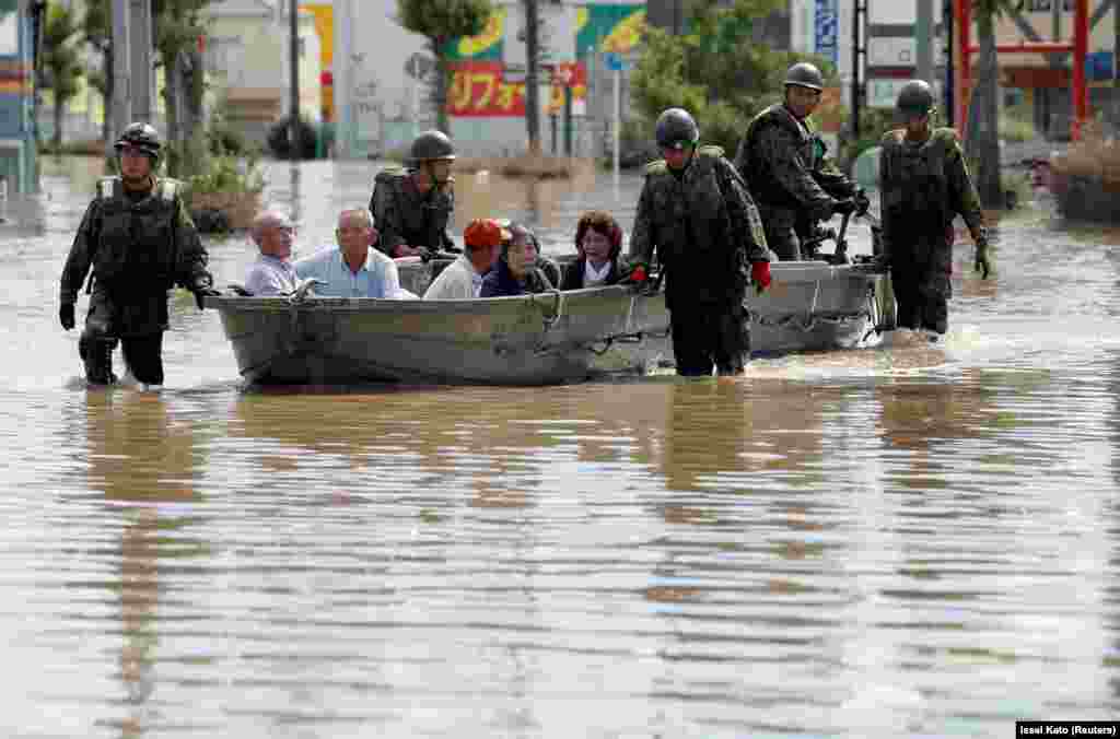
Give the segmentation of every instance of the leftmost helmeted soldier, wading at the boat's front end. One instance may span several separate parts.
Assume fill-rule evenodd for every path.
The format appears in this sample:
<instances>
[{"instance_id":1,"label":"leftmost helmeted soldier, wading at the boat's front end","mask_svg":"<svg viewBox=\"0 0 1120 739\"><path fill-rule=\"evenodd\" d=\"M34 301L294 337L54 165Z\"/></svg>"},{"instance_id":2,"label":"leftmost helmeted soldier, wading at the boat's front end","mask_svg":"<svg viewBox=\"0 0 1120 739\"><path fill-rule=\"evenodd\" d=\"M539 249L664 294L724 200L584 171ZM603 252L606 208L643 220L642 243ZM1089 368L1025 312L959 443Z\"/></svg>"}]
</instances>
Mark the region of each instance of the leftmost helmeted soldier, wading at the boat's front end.
<instances>
[{"instance_id":1,"label":"leftmost helmeted soldier, wading at the boat's front end","mask_svg":"<svg viewBox=\"0 0 1120 739\"><path fill-rule=\"evenodd\" d=\"M156 177L160 140L148 123L132 123L113 144L120 175L104 177L86 208L63 269L58 319L74 328L74 305L86 274L90 310L78 354L91 384L110 384L118 342L124 362L144 385L164 384L162 340L167 291L218 294L206 270L207 254L184 202L183 184Z\"/></svg>"}]
</instances>

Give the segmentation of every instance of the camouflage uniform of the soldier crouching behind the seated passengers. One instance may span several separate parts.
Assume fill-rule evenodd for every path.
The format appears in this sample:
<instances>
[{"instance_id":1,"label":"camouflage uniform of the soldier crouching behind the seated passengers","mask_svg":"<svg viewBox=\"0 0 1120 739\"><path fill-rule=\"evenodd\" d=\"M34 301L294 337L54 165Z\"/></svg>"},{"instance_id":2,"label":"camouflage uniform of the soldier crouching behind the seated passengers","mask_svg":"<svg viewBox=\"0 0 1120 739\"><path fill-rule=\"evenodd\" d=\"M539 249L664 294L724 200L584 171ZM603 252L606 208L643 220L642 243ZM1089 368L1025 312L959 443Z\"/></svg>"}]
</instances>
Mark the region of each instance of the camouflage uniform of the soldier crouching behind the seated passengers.
<instances>
[{"instance_id":1,"label":"camouflage uniform of the soldier crouching behind the seated passengers","mask_svg":"<svg viewBox=\"0 0 1120 739\"><path fill-rule=\"evenodd\" d=\"M422 194L407 169L385 169L377 172L370 212L381 233L377 249L390 256L394 256L401 244L433 252L459 251L447 233L455 213L455 191L450 186Z\"/></svg>"}]
</instances>

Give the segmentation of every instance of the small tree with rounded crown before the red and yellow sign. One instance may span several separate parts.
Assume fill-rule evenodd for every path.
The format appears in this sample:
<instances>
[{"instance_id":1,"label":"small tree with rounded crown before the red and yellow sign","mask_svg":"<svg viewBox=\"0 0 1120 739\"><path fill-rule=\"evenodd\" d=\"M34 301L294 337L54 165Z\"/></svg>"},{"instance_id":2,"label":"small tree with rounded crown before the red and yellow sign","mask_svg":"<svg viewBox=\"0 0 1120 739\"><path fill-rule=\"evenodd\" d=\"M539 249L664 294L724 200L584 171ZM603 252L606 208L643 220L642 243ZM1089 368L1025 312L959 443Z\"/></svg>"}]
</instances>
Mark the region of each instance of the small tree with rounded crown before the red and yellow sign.
<instances>
[{"instance_id":1,"label":"small tree with rounded crown before the red and yellow sign","mask_svg":"<svg viewBox=\"0 0 1120 739\"><path fill-rule=\"evenodd\" d=\"M396 0L396 22L403 29L428 39L428 50L436 59L432 102L436 105L436 127L445 133L448 131L447 87L450 77L447 45L452 38L480 34L493 10L491 0Z\"/></svg>"}]
</instances>

